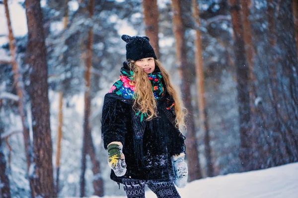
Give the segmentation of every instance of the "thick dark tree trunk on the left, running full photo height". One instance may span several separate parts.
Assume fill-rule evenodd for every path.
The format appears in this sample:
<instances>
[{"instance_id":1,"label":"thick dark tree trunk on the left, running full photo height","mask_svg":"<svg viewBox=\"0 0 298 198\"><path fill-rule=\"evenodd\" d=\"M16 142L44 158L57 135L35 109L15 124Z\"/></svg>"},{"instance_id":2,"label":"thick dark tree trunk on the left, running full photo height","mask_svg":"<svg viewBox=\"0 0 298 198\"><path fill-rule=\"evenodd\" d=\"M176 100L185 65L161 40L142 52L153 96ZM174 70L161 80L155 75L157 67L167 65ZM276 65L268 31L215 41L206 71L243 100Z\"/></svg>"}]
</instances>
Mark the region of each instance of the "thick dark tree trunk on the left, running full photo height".
<instances>
[{"instance_id":1,"label":"thick dark tree trunk on the left, running full photo height","mask_svg":"<svg viewBox=\"0 0 298 198\"><path fill-rule=\"evenodd\" d=\"M27 62L31 66L31 111L33 130L32 172L35 197L52 198L54 193L52 140L48 99L48 67L39 0L26 0L28 25Z\"/></svg>"}]
</instances>

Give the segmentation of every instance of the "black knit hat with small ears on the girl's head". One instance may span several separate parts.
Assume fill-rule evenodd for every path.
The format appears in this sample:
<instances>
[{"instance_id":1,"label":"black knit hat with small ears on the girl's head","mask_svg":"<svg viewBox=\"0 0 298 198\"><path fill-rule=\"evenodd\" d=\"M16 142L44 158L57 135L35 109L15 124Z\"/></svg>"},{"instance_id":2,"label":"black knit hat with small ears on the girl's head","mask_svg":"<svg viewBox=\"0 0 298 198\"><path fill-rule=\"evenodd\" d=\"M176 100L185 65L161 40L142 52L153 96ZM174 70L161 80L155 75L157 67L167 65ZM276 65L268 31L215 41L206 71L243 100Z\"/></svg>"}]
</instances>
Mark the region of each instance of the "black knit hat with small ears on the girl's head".
<instances>
[{"instance_id":1,"label":"black knit hat with small ears on the girl's head","mask_svg":"<svg viewBox=\"0 0 298 198\"><path fill-rule=\"evenodd\" d=\"M152 46L149 43L149 38L146 36L128 36L122 35L122 40L126 42L126 59L138 61L140 59L153 57L157 59Z\"/></svg>"}]
</instances>

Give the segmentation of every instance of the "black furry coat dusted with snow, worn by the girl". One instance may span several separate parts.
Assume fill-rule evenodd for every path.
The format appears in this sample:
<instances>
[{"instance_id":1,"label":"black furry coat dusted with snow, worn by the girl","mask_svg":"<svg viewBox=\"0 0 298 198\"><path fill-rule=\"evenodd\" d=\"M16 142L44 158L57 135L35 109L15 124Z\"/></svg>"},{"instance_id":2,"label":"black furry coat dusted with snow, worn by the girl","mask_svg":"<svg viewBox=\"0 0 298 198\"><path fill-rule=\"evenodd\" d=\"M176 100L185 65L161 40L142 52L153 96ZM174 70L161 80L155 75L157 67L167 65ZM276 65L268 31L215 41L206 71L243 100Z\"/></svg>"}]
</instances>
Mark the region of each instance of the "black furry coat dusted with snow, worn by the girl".
<instances>
[{"instance_id":1,"label":"black furry coat dusted with snow, worn by the girl","mask_svg":"<svg viewBox=\"0 0 298 198\"><path fill-rule=\"evenodd\" d=\"M112 141L121 142L127 164L127 172L122 177L111 171L112 180L117 183L122 183L122 178L174 181L171 156L185 152L185 136L174 126L174 111L166 108L170 100L172 97L165 91L157 100L158 117L140 122L132 109L133 99L113 93L105 95L101 120L104 148ZM142 130L142 139L136 138L135 134Z\"/></svg>"}]
</instances>

